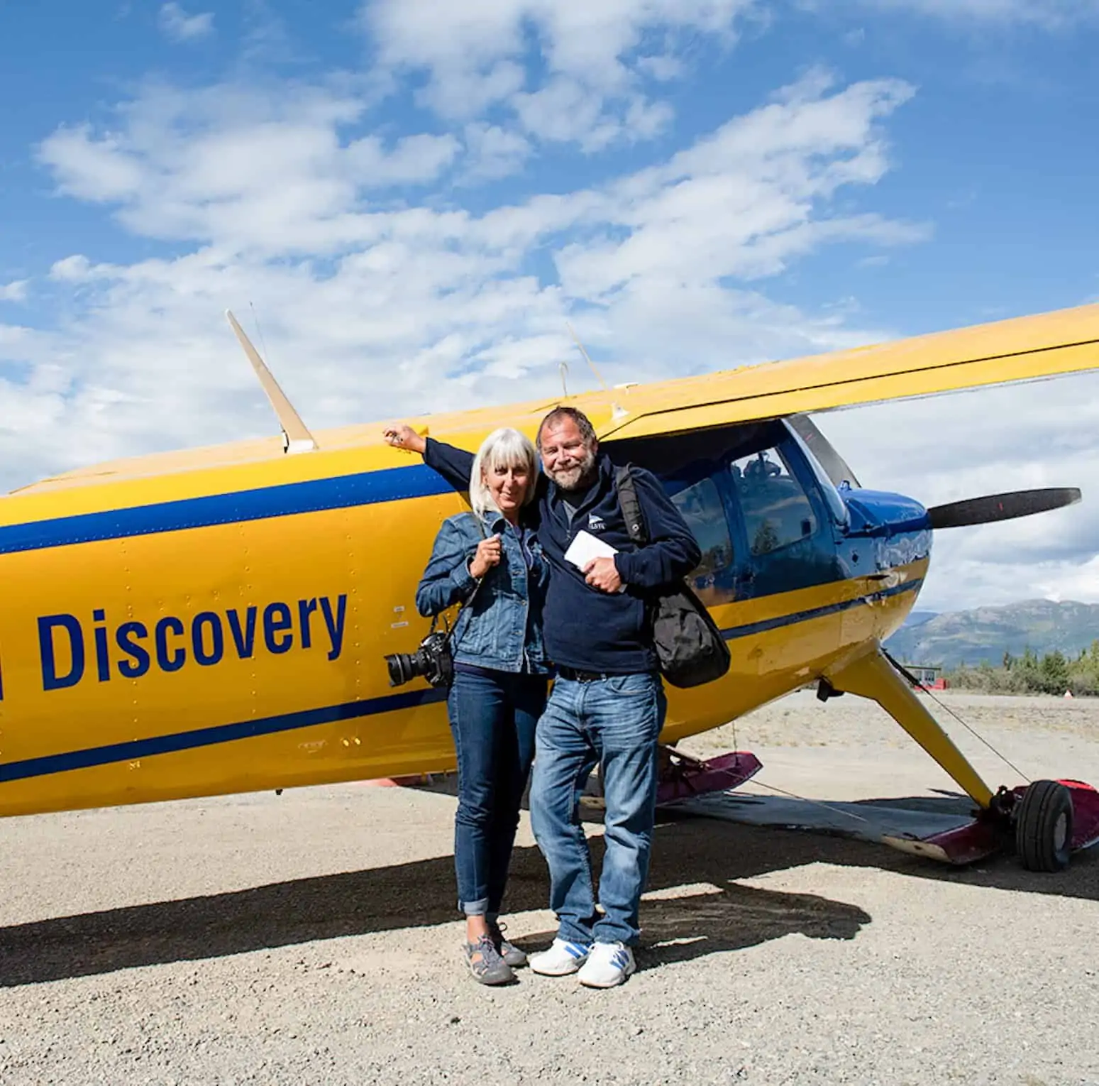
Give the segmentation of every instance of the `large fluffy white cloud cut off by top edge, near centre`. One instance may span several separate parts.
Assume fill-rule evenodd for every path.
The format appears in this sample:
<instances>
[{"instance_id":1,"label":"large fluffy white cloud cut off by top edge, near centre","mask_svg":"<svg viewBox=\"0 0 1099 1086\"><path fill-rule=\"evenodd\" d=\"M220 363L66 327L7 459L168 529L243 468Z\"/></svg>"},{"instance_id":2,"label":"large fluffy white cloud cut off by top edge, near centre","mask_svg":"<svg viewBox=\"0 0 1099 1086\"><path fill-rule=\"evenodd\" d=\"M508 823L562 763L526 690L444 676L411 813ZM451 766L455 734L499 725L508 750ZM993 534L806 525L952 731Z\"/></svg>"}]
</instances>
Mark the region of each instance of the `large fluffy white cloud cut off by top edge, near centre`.
<instances>
[{"instance_id":1,"label":"large fluffy white cloud cut off by top edge, near centre","mask_svg":"<svg viewBox=\"0 0 1099 1086\"><path fill-rule=\"evenodd\" d=\"M368 0L360 23L389 71L429 75L422 101L471 120L493 103L513 109L525 131L593 151L650 138L670 107L648 101L645 81L680 73L674 48L642 49L646 33L710 34L733 41L757 0ZM545 78L529 85L536 55Z\"/></svg>"}]
</instances>

